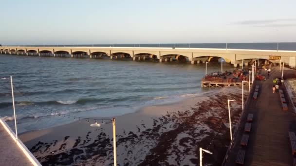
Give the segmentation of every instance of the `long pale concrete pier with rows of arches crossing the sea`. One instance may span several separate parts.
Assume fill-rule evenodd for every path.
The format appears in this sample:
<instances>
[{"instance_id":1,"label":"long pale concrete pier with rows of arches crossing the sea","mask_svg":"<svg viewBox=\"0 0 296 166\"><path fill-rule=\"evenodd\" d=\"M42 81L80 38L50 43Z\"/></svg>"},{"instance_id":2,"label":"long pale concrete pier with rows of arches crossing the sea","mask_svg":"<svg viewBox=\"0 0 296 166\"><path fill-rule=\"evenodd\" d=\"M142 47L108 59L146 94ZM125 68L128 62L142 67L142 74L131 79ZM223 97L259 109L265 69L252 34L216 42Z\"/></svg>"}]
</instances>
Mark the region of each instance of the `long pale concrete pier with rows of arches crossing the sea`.
<instances>
[{"instance_id":1,"label":"long pale concrete pier with rows of arches crossing the sea","mask_svg":"<svg viewBox=\"0 0 296 166\"><path fill-rule=\"evenodd\" d=\"M223 58L235 67L247 66L258 59L284 62L296 67L296 51L291 50L241 50L199 48L148 48L148 47L16 47L1 46L1 54L54 57L88 57L133 60L157 59L159 62L184 61L191 64L210 62Z\"/></svg>"}]
</instances>

